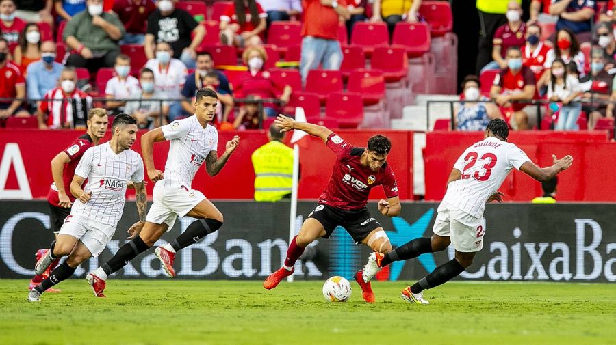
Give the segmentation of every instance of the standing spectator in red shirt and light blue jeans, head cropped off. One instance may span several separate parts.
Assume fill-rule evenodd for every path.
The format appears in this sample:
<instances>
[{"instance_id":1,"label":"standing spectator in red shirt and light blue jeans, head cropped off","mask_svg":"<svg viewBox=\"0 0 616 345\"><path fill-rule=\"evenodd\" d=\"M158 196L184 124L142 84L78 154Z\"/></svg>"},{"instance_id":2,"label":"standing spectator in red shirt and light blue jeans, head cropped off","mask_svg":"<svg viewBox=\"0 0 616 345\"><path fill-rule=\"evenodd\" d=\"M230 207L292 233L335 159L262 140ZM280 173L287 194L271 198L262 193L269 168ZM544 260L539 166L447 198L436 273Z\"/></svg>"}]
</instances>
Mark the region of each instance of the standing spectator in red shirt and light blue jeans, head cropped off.
<instances>
[{"instance_id":1,"label":"standing spectator in red shirt and light blue jeans, head cropped off","mask_svg":"<svg viewBox=\"0 0 616 345\"><path fill-rule=\"evenodd\" d=\"M342 64L342 49L338 41L339 18L350 19L346 0L303 0L302 56L300 73L305 83L308 72L319 65L326 70L338 70Z\"/></svg>"}]
</instances>

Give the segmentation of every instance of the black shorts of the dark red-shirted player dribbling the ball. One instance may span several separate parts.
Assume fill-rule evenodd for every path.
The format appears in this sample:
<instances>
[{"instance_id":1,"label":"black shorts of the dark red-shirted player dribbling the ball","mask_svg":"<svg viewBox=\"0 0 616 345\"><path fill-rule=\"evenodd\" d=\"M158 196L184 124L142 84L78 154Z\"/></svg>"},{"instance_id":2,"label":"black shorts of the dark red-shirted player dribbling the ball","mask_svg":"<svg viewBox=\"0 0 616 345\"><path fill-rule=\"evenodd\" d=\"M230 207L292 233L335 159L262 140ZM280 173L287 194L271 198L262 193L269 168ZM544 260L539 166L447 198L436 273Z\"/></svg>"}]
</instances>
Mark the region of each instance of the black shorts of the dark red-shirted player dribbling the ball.
<instances>
[{"instance_id":1,"label":"black shorts of the dark red-shirted player dribbling the ball","mask_svg":"<svg viewBox=\"0 0 616 345\"><path fill-rule=\"evenodd\" d=\"M381 224L376 221L376 218L370 215L368 208L361 210L341 210L333 208L325 204L318 204L308 218L313 218L319 221L325 228L325 236L329 238L337 226L342 226L346 232L355 240L355 243L361 243L361 240L368 236Z\"/></svg>"}]
</instances>

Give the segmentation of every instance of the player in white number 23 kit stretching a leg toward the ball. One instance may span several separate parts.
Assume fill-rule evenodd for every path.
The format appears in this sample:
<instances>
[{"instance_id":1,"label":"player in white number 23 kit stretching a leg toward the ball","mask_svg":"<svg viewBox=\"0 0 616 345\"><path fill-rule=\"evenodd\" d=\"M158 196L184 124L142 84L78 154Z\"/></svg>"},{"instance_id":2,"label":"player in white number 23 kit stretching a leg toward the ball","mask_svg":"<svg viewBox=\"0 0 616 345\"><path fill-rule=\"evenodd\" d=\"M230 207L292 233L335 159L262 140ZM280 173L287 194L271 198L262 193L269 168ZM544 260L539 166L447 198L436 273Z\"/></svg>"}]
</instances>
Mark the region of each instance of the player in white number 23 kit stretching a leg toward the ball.
<instances>
[{"instance_id":1,"label":"player in white number 23 kit stretching a leg toward the ball","mask_svg":"<svg viewBox=\"0 0 616 345\"><path fill-rule=\"evenodd\" d=\"M543 182L569 169L572 156L554 158L554 165L537 167L513 143L507 142L509 127L501 119L488 123L485 139L467 148L454 164L447 181L447 192L437 210L432 237L420 237L386 254L371 253L363 268L363 279L370 281L381 268L394 261L416 258L423 253L445 250L450 243L455 258L435 268L413 286L402 290L402 298L418 304L429 304L423 290L434 288L457 277L473 262L483 247L485 228L483 210L486 202L502 202L498 192L502 181L515 168Z\"/></svg>"}]
</instances>

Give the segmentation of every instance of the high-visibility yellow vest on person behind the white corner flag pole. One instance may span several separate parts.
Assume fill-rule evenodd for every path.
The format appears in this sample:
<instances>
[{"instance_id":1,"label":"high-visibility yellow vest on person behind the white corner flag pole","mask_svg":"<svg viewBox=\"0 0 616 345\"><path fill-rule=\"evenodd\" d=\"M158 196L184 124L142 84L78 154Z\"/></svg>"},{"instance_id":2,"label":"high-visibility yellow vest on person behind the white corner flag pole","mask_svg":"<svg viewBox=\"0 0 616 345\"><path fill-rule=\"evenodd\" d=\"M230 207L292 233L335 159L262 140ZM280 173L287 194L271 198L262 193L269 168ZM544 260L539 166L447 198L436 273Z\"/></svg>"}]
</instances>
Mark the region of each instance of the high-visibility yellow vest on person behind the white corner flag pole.
<instances>
[{"instance_id":1,"label":"high-visibility yellow vest on person behind the white corner flag pole","mask_svg":"<svg viewBox=\"0 0 616 345\"><path fill-rule=\"evenodd\" d=\"M255 200L277 202L291 193L293 149L272 140L251 156L255 168Z\"/></svg>"}]
</instances>

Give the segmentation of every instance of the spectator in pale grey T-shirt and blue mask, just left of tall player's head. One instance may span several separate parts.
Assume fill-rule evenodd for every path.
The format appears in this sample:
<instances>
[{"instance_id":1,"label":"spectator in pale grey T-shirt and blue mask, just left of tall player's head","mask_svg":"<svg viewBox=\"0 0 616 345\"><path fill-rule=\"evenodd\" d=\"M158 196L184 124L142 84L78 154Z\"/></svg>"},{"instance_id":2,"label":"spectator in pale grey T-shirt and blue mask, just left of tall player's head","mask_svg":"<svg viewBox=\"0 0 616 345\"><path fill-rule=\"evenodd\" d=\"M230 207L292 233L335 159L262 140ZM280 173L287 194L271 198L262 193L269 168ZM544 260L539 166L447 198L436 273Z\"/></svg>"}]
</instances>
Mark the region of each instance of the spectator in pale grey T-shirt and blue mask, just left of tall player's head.
<instances>
[{"instance_id":1,"label":"spectator in pale grey T-shirt and blue mask, just left of tall player's head","mask_svg":"<svg viewBox=\"0 0 616 345\"><path fill-rule=\"evenodd\" d=\"M149 68L143 68L139 82L141 89L133 90L130 98L134 100L126 102L125 113L136 118L139 128L158 128L166 124L165 117L169 111L169 103L156 100L164 99L164 95L157 92L154 87L154 72Z\"/></svg>"}]
</instances>

